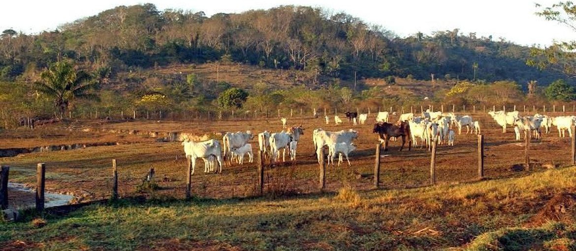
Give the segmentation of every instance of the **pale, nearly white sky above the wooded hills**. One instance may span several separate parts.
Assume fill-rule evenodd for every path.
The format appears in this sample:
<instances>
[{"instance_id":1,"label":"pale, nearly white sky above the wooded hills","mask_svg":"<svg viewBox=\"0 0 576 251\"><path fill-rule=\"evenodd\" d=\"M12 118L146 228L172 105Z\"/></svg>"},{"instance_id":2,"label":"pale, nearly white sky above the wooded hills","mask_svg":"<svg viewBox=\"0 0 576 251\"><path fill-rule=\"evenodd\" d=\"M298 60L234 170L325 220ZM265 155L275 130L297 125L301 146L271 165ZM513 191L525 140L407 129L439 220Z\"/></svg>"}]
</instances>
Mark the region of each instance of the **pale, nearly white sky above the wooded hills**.
<instances>
[{"instance_id":1,"label":"pale, nearly white sky above the wooded hills","mask_svg":"<svg viewBox=\"0 0 576 251\"><path fill-rule=\"evenodd\" d=\"M576 31L534 13L535 3L548 7L554 0L8 0L3 2L0 31L14 29L26 34L54 30L82 17L95 16L119 5L153 3L158 10L182 9L215 13L241 13L280 5L322 7L334 13L345 12L369 24L381 25L400 37L417 32L432 36L438 30L459 29L460 34L505 38L519 45L550 45L552 41L576 40ZM376 2L376 3L375 3Z\"/></svg>"}]
</instances>

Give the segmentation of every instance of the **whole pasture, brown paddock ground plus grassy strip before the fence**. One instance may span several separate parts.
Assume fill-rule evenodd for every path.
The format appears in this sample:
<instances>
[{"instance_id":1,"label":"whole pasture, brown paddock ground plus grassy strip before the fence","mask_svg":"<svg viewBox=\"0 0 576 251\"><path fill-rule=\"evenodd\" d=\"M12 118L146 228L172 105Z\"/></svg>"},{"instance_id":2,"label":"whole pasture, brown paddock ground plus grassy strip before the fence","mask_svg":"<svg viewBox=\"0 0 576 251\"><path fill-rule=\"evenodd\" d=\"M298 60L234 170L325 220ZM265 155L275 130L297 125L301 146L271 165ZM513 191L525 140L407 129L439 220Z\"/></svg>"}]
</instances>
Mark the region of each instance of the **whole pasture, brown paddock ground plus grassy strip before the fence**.
<instances>
[{"instance_id":1,"label":"whole pasture, brown paddock ground plus grassy strip before the fence","mask_svg":"<svg viewBox=\"0 0 576 251\"><path fill-rule=\"evenodd\" d=\"M198 136L252 130L257 134L280 131L279 118L79 121L33 132L3 132L3 148L119 142L28 153L1 162L11 167L10 182L29 185L35 184L36 164L44 162L47 190L74 194L78 202L84 202L110 197L111 160L116 159L119 194L126 199L90 206L66 217L45 215L47 226L39 229L31 222L2 224L0 245L7 250L497 250L512 243L502 244L502 238L507 238L518 242L514 250L539 250L564 242L569 249L556 250L573 250L573 222L534 225L534 217L554 195L575 192L576 171L566 168L570 138L559 138L554 128L543 134L542 140L532 140L530 160L535 165L532 171L525 171L513 168L524 162L524 143L514 141L511 128L502 134L488 114L471 115L480 121L485 135L484 181L477 177L477 137L461 134L455 146L438 146L437 186L429 186L430 153L419 147L398 152L397 141L391 142L389 152L382 152L381 188L373 190L375 114L366 125L358 126L346 122L335 126L333 121L325 125L324 118L294 117L288 119L289 126L305 128L297 161L266 166L266 195L252 198L256 163L225 166L217 175L204 174L198 160L191 201L182 200L186 180L180 142L157 142L149 136L111 130ZM71 126L75 129L65 129ZM82 131L86 128L89 132ZM328 167L323 193L319 193L319 168L313 155L311 134L315 128L359 131L358 149L350 156L352 166ZM251 142L257 149L257 138ZM139 191L149 168L156 170L159 188ZM141 195L149 200L130 199Z\"/></svg>"}]
</instances>

